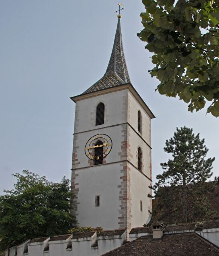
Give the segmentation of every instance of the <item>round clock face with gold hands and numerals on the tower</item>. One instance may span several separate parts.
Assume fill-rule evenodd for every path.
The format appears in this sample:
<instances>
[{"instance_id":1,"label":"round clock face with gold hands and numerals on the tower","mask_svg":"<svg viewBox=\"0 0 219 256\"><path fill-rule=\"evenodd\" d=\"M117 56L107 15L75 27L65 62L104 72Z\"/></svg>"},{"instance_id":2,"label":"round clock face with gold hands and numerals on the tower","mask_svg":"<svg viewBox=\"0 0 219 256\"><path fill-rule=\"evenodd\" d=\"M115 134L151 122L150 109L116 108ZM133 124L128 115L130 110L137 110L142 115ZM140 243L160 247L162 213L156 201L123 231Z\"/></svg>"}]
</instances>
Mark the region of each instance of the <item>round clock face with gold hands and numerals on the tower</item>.
<instances>
[{"instance_id":1,"label":"round clock face with gold hands and numerals on the tower","mask_svg":"<svg viewBox=\"0 0 219 256\"><path fill-rule=\"evenodd\" d=\"M106 134L96 134L85 145L84 151L88 158L99 160L110 153L113 143Z\"/></svg>"}]
</instances>

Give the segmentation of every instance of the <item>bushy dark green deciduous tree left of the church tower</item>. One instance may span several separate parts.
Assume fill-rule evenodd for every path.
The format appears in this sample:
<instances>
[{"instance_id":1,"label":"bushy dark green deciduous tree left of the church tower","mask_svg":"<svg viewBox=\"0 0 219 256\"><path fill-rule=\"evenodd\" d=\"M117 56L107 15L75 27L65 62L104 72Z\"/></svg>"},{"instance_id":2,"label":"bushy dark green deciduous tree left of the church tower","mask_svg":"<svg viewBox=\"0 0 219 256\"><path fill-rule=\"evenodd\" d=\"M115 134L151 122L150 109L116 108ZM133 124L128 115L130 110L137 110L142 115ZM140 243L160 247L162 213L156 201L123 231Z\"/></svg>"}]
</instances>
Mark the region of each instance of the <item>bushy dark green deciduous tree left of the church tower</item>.
<instances>
[{"instance_id":1,"label":"bushy dark green deciduous tree left of the church tower","mask_svg":"<svg viewBox=\"0 0 219 256\"><path fill-rule=\"evenodd\" d=\"M70 223L70 181L47 181L30 171L13 175L13 190L0 196L0 249L34 237L67 233Z\"/></svg>"}]
</instances>

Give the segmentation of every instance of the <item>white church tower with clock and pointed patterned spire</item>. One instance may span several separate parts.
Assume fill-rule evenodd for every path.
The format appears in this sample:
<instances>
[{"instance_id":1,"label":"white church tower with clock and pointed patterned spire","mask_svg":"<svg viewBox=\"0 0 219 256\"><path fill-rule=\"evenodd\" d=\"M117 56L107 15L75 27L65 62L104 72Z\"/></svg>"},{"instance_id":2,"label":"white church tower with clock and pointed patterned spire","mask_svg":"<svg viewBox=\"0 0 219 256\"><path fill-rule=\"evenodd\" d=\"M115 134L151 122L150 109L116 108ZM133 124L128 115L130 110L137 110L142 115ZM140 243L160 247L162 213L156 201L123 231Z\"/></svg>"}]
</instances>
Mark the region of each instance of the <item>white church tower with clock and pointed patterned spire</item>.
<instances>
[{"instance_id":1,"label":"white church tower with clock and pointed patterned spire","mask_svg":"<svg viewBox=\"0 0 219 256\"><path fill-rule=\"evenodd\" d=\"M151 194L151 119L131 85L120 25L104 76L76 103L72 213L80 226L128 229L148 221Z\"/></svg>"}]
</instances>

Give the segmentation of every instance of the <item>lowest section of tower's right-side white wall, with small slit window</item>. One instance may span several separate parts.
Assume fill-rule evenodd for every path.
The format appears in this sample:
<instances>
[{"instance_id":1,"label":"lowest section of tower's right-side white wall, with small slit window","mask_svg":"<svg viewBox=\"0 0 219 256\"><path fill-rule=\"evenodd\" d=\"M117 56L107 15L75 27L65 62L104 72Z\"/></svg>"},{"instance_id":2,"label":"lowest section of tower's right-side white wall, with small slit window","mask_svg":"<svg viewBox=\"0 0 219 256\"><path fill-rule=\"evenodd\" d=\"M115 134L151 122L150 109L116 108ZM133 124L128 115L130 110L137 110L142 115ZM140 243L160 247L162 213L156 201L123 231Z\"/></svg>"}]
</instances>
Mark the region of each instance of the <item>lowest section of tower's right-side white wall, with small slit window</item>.
<instances>
[{"instance_id":1,"label":"lowest section of tower's right-side white wall, with small slit window","mask_svg":"<svg viewBox=\"0 0 219 256\"><path fill-rule=\"evenodd\" d=\"M131 168L131 228L142 227L149 217L148 209L151 199L147 197L147 194L150 192L148 188L150 181L133 166L130 164L128 166ZM140 210L140 200L142 201L143 211Z\"/></svg>"}]
</instances>

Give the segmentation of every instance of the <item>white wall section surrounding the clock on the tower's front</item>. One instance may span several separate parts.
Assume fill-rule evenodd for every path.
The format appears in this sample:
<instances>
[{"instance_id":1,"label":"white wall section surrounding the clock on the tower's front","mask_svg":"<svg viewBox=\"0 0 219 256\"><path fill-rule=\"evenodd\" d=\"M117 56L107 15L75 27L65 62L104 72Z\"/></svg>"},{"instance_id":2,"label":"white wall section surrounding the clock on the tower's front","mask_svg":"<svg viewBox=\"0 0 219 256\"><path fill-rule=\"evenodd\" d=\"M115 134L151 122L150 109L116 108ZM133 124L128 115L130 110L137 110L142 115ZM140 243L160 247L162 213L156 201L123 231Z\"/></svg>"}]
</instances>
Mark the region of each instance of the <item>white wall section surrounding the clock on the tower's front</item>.
<instances>
[{"instance_id":1,"label":"white wall section surrounding the clock on the tower's front","mask_svg":"<svg viewBox=\"0 0 219 256\"><path fill-rule=\"evenodd\" d=\"M106 134L111 137L112 140L112 149L111 152L106 156L106 163L112 163L116 161L120 161L120 155L121 152L121 142L124 140L123 134L122 134L123 126L114 126L114 127L108 127L108 128L102 128L94 131L89 132L83 132L80 134L77 134L77 163L80 162L80 164L77 164L77 168L89 166L89 159L85 155L84 148L87 143L87 141L92 138L92 136L96 134ZM73 166L74 168L74 166Z\"/></svg>"}]
</instances>

